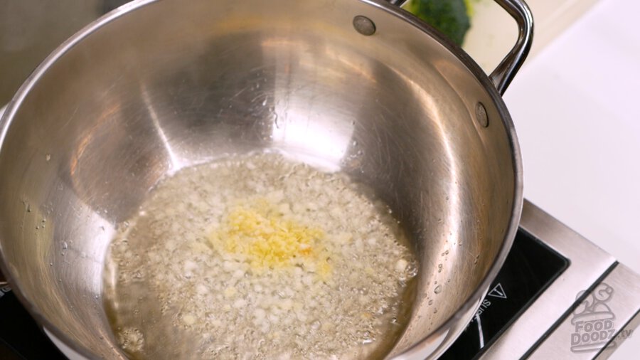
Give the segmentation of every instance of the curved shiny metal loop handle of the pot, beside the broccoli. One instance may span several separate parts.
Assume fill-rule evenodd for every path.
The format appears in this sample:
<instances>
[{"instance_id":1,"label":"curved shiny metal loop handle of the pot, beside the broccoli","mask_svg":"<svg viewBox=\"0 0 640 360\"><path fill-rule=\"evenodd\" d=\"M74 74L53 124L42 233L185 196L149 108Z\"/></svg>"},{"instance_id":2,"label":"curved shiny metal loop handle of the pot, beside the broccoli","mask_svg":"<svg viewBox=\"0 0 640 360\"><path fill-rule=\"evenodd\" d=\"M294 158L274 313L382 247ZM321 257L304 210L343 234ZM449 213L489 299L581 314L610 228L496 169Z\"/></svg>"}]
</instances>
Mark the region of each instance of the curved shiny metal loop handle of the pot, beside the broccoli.
<instances>
[{"instance_id":1,"label":"curved shiny metal loop handle of the pot, beside the broccoli","mask_svg":"<svg viewBox=\"0 0 640 360\"><path fill-rule=\"evenodd\" d=\"M500 92L504 94L524 60L533 43L533 15L524 0L494 0L502 6L518 23L518 41L511 51L502 59L489 78ZM390 4L402 6L407 0L388 0Z\"/></svg>"}]
</instances>

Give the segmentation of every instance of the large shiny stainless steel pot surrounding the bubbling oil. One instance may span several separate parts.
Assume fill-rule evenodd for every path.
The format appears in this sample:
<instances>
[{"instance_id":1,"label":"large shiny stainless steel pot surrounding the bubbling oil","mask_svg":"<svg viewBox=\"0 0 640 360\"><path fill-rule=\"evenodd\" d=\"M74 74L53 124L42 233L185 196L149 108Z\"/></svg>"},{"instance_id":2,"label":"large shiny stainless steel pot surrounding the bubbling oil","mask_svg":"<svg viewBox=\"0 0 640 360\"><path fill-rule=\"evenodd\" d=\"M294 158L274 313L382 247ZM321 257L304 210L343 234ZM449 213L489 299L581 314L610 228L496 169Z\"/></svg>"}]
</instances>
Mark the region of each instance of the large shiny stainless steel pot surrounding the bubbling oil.
<instances>
[{"instance_id":1,"label":"large shiny stainless steel pot surrounding the bubbling oil","mask_svg":"<svg viewBox=\"0 0 640 360\"><path fill-rule=\"evenodd\" d=\"M346 171L393 208L420 274L388 356L437 356L476 312L520 218L521 157L500 95L532 23L522 1L496 1L521 32L489 77L381 0L145 0L100 18L1 120L3 272L63 342L122 357L101 300L117 224L164 174L281 149Z\"/></svg>"}]
</instances>

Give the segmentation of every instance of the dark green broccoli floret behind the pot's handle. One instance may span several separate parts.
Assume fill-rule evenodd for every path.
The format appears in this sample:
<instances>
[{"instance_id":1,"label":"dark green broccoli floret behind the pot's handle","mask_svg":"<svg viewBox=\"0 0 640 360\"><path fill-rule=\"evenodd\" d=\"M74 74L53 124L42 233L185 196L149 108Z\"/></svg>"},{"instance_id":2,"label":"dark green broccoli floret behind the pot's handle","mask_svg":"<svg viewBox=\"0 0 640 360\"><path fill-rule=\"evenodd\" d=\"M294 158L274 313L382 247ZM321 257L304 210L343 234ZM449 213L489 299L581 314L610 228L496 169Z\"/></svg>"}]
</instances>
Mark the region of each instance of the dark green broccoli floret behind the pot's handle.
<instances>
[{"instance_id":1,"label":"dark green broccoli floret behind the pot's handle","mask_svg":"<svg viewBox=\"0 0 640 360\"><path fill-rule=\"evenodd\" d=\"M462 45L464 34L471 26L466 3L465 0L411 0L405 9Z\"/></svg>"}]
</instances>

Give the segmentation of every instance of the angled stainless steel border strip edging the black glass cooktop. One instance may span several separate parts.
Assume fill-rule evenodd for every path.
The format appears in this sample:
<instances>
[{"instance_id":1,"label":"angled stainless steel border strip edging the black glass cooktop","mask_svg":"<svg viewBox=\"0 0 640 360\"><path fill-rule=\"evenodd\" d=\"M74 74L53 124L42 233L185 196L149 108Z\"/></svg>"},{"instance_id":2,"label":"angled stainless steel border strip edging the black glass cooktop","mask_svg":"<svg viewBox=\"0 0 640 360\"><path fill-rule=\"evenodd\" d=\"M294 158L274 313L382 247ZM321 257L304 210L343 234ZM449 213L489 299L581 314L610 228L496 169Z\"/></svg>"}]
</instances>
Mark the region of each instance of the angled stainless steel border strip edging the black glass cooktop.
<instances>
[{"instance_id":1,"label":"angled stainless steel border strip edging the black glass cooktop","mask_svg":"<svg viewBox=\"0 0 640 360\"><path fill-rule=\"evenodd\" d=\"M578 292L590 288L615 263L612 255L567 228L529 201L524 202L521 228L570 260L562 272L517 321L481 356L482 359L519 359L562 319ZM508 293L509 290L505 289ZM567 349L570 339L566 337ZM557 359L548 357L547 359Z\"/></svg>"}]
</instances>

